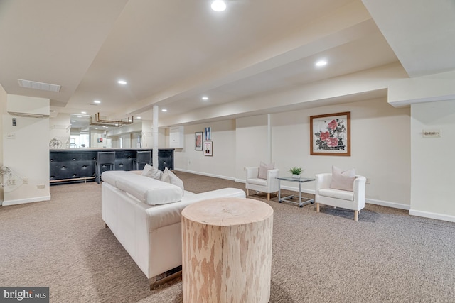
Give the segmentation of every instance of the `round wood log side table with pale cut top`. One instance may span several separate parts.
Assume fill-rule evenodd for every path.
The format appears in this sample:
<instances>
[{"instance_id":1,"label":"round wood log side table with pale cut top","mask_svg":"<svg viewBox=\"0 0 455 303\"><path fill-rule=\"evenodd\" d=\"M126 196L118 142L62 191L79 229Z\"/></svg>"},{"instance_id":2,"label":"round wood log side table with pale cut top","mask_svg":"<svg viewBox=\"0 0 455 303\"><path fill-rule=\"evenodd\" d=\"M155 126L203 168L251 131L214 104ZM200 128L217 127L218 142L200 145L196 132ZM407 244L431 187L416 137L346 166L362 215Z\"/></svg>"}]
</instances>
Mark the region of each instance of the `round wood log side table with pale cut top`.
<instances>
[{"instance_id":1,"label":"round wood log side table with pale cut top","mask_svg":"<svg viewBox=\"0 0 455 303\"><path fill-rule=\"evenodd\" d=\"M273 209L208 199L182 211L183 302L269 302Z\"/></svg>"}]
</instances>

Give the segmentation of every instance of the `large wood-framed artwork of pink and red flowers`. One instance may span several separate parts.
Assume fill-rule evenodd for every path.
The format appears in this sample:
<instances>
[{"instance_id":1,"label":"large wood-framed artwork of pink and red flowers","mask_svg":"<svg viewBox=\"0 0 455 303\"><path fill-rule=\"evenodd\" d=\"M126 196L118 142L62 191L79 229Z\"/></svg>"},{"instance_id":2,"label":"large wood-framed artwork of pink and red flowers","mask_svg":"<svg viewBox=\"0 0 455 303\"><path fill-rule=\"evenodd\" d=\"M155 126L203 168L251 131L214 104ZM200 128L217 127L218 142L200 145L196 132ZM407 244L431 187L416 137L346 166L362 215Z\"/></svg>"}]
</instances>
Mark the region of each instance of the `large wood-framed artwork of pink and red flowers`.
<instances>
[{"instance_id":1,"label":"large wood-framed artwork of pink and red flowers","mask_svg":"<svg viewBox=\"0 0 455 303\"><path fill-rule=\"evenodd\" d=\"M350 111L310 116L310 155L350 156Z\"/></svg>"}]
</instances>

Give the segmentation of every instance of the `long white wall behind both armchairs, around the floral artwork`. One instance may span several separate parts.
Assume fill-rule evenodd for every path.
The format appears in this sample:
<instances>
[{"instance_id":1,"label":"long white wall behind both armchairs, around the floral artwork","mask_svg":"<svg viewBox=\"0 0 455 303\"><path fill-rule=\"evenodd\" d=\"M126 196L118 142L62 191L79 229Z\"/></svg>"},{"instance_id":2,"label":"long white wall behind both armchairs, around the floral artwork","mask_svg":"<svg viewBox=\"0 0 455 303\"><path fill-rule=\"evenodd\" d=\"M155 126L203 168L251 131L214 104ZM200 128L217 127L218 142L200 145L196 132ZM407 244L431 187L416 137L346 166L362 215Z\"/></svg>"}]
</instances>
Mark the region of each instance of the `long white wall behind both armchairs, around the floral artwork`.
<instances>
[{"instance_id":1,"label":"long white wall behind both armchairs, around the floral artwork","mask_svg":"<svg viewBox=\"0 0 455 303\"><path fill-rule=\"evenodd\" d=\"M350 111L351 156L310 155L310 116L343 111ZM293 166L303 167L309 177L330 172L332 165L355 167L358 175L370 179L370 203L410 209L410 107L394 108L382 98L270 116L270 146L267 115L185 126L185 148L174 153L176 170L245 182L244 167L269 162L271 148L271 161L282 176ZM194 133L207 126L212 127L213 158L194 150ZM294 183L284 188L297 189ZM304 191L314 192L314 182L304 184Z\"/></svg>"}]
</instances>

